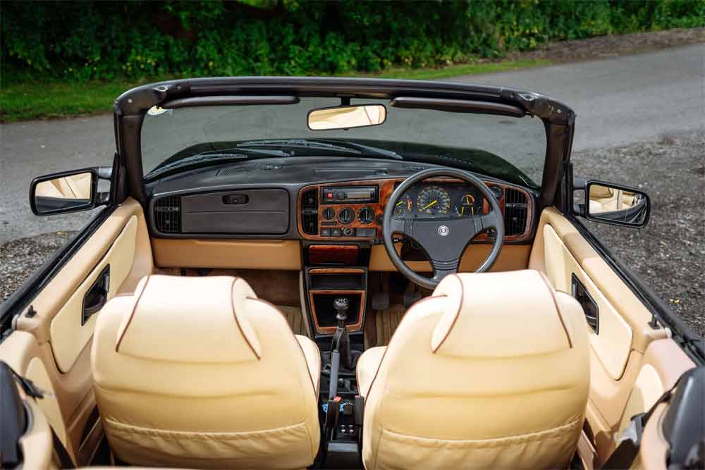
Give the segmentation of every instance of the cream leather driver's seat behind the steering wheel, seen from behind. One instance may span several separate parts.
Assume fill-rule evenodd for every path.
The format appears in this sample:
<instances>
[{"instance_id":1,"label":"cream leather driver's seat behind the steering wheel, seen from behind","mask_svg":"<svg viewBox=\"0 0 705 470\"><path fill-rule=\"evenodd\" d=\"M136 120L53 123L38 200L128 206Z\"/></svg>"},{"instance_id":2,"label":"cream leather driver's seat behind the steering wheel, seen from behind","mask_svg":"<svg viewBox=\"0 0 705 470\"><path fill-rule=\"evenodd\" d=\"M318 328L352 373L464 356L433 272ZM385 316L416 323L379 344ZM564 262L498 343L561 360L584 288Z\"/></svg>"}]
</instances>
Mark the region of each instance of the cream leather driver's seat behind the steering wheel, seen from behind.
<instances>
[{"instance_id":1,"label":"cream leather driver's seat behind the steering wheel, seen from behind","mask_svg":"<svg viewBox=\"0 0 705 470\"><path fill-rule=\"evenodd\" d=\"M538 271L448 276L357 362L367 470L567 468L587 322Z\"/></svg>"}]
</instances>

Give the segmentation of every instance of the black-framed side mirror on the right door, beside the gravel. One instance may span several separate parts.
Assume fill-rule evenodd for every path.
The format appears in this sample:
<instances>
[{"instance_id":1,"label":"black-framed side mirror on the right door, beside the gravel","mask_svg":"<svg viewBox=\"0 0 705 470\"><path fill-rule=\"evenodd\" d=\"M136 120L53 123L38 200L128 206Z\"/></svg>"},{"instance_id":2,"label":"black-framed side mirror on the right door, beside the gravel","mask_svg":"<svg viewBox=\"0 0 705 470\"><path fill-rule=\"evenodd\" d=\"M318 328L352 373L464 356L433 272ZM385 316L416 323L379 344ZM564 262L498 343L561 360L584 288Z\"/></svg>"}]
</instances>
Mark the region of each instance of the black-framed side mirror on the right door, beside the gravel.
<instances>
[{"instance_id":1,"label":"black-framed side mirror on the right door, beside the gravel","mask_svg":"<svg viewBox=\"0 0 705 470\"><path fill-rule=\"evenodd\" d=\"M635 228L649 221L649 196L633 187L591 180L585 185L585 201L584 216L589 221Z\"/></svg>"}]
</instances>

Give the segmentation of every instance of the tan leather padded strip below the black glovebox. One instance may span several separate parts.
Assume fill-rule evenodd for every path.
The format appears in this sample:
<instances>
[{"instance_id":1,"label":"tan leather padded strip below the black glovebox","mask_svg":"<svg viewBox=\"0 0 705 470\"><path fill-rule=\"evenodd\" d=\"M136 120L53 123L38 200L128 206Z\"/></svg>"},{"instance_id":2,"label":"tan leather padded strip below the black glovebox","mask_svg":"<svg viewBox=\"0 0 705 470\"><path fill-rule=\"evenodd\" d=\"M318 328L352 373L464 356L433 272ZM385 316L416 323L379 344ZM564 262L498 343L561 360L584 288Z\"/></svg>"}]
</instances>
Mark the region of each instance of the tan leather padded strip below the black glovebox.
<instances>
[{"instance_id":1,"label":"tan leather padded strip below the black glovebox","mask_svg":"<svg viewBox=\"0 0 705 470\"><path fill-rule=\"evenodd\" d=\"M298 240L198 240L154 238L159 268L301 269Z\"/></svg>"}]
</instances>

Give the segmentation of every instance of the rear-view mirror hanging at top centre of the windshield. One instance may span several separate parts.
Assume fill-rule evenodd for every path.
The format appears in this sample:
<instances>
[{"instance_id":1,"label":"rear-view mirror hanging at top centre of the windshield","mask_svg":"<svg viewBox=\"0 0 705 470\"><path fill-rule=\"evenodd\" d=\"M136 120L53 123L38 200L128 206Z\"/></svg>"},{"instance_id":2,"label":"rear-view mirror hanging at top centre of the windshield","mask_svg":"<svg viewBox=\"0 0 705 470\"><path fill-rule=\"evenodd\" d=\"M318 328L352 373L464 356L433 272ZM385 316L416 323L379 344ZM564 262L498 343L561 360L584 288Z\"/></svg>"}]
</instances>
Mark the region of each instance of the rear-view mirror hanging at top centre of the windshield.
<instances>
[{"instance_id":1,"label":"rear-view mirror hanging at top centre of the windshield","mask_svg":"<svg viewBox=\"0 0 705 470\"><path fill-rule=\"evenodd\" d=\"M308 114L310 130L364 128L380 125L387 118L387 109L381 104L336 106L312 109Z\"/></svg>"}]
</instances>

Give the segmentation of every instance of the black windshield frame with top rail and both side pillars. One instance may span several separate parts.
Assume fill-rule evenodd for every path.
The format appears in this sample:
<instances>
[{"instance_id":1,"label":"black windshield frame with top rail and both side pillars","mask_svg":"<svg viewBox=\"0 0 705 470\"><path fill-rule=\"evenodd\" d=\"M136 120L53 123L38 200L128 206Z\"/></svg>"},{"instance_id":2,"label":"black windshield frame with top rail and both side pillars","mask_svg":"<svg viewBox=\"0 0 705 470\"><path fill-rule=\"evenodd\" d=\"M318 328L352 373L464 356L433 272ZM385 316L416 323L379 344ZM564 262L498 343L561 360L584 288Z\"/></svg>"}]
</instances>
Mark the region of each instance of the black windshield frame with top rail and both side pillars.
<instances>
[{"instance_id":1,"label":"black windshield frame with top rail and both side pillars","mask_svg":"<svg viewBox=\"0 0 705 470\"><path fill-rule=\"evenodd\" d=\"M170 80L142 85L123 93L114 104L118 156L124 164L128 193L143 205L147 202L142 171L142 121L152 106L212 106L214 104L263 104L265 100L297 102L299 97L345 99L411 99L439 109L443 101L479 103L487 112L511 106L540 118L546 128L546 156L541 178L541 206L553 204L560 181L560 168L570 157L575 113L560 101L535 92L470 83L374 78L241 77ZM416 100L414 100L416 99ZM418 104L416 105L418 106ZM119 168L118 168L119 171Z\"/></svg>"}]
</instances>

